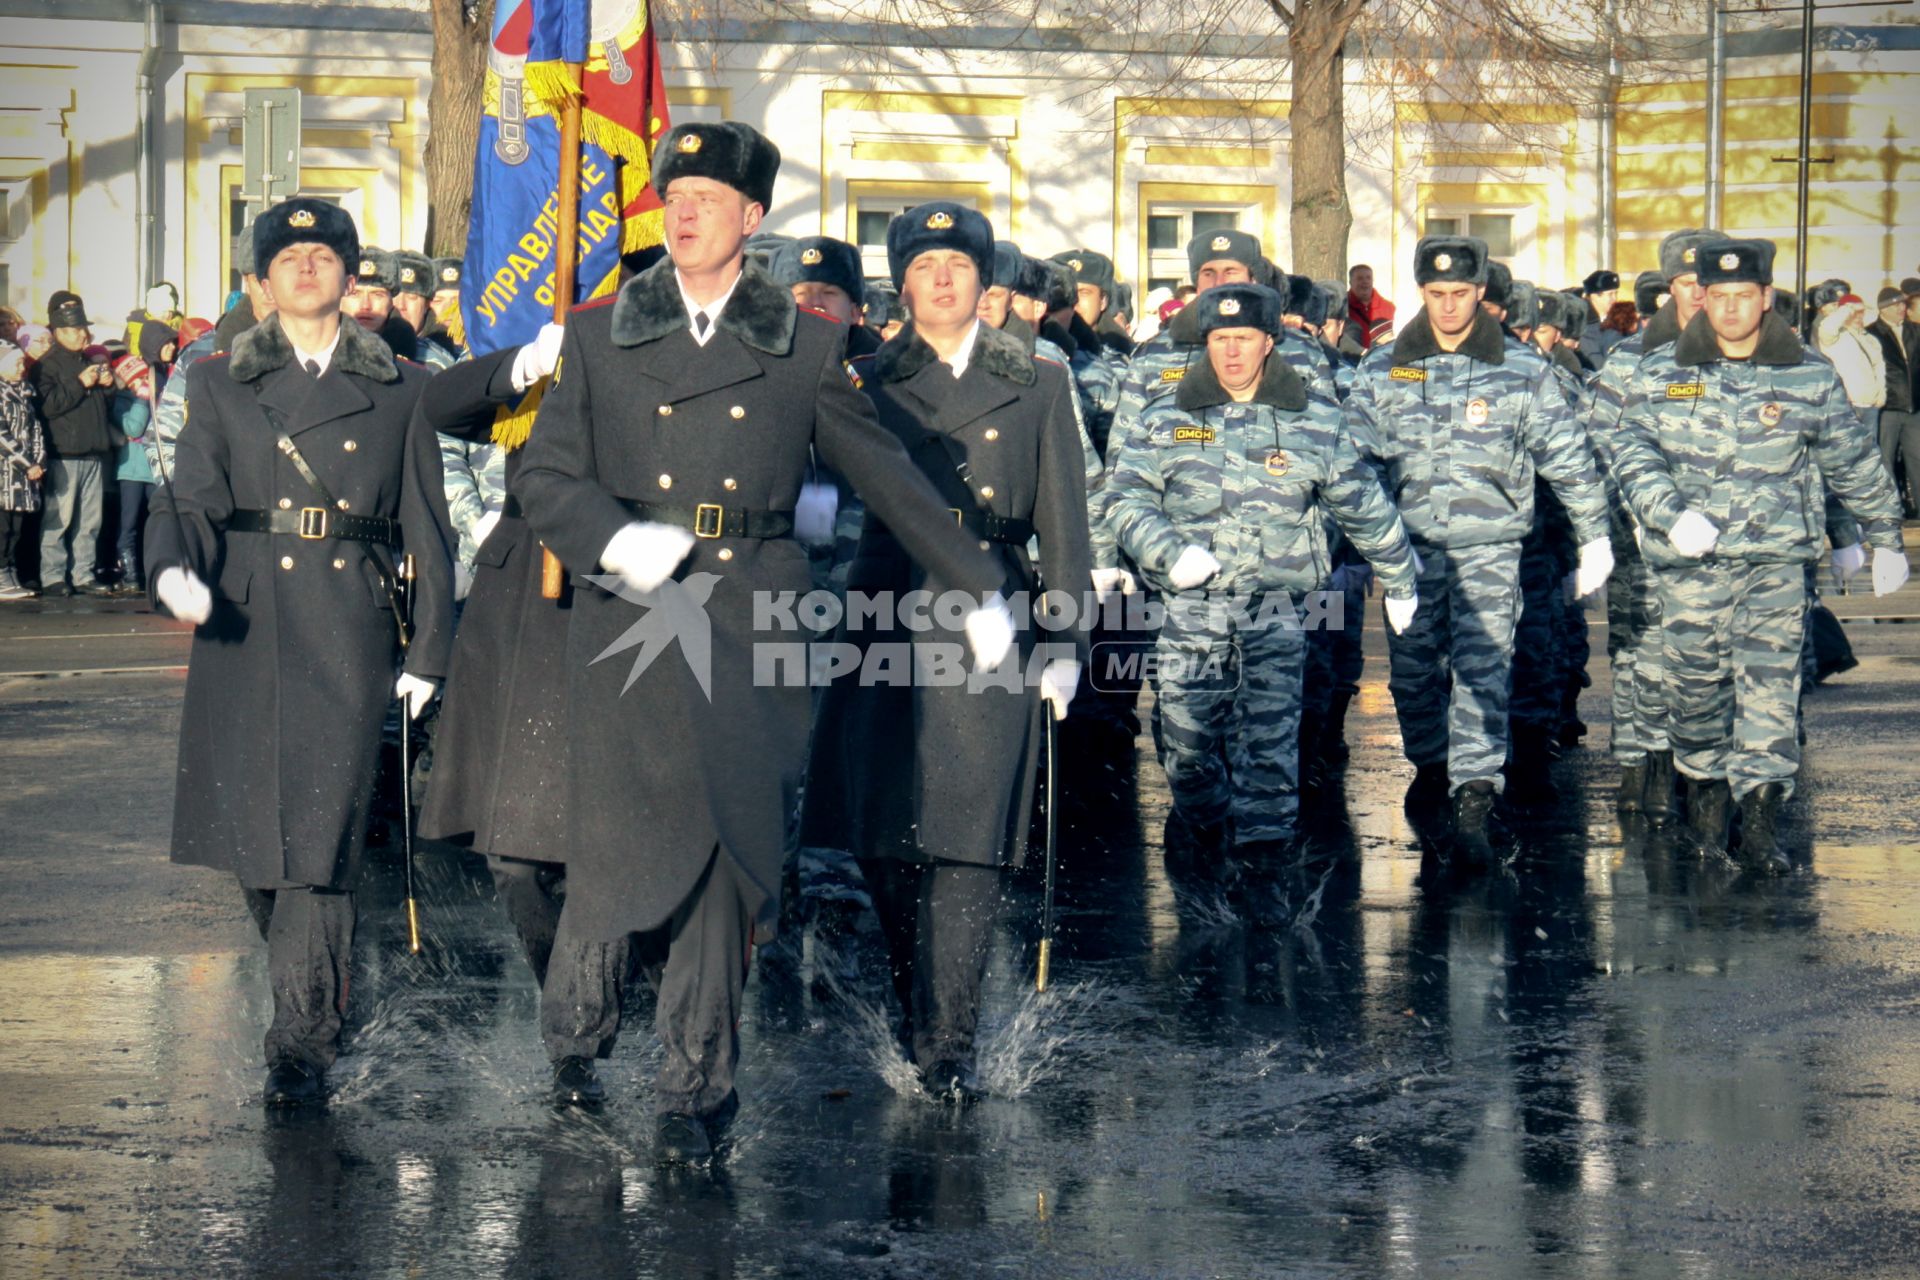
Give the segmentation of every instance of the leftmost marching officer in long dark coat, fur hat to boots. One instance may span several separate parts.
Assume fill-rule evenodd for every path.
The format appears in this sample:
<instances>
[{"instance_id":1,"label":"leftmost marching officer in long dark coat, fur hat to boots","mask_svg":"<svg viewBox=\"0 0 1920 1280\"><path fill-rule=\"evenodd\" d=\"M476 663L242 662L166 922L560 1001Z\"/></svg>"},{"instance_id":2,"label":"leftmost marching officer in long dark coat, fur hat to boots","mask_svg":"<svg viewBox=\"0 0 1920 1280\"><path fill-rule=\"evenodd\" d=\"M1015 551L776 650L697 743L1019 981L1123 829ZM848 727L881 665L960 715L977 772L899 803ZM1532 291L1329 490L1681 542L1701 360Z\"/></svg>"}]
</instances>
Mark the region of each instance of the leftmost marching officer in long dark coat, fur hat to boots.
<instances>
[{"instance_id":1,"label":"leftmost marching officer in long dark coat, fur hat to boots","mask_svg":"<svg viewBox=\"0 0 1920 1280\"><path fill-rule=\"evenodd\" d=\"M188 370L154 499L154 595L194 622L173 858L234 871L267 938L267 1102L311 1102L340 1042L380 723L445 672L451 568L428 376L346 320L353 219L290 200L253 223L276 317ZM419 581L401 656L401 533Z\"/></svg>"}]
</instances>

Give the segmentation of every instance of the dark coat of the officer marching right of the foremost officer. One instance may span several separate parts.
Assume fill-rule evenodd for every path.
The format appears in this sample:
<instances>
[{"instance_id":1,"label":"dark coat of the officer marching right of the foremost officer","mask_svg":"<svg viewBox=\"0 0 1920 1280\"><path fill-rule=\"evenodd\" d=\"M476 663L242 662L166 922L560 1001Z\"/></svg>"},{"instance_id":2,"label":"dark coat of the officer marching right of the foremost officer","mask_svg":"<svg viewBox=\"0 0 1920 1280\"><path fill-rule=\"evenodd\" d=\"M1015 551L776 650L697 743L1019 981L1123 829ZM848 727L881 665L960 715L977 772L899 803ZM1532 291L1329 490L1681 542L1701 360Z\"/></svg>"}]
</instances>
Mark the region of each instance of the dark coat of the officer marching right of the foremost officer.
<instances>
[{"instance_id":1,"label":"dark coat of the officer marching right of the foremost officer","mask_svg":"<svg viewBox=\"0 0 1920 1280\"><path fill-rule=\"evenodd\" d=\"M1083 610L1092 553L1066 370L1035 361L1023 342L985 324L960 378L912 326L876 357L854 361L854 370L881 424L998 560L1008 597L1027 591L1039 601L1043 576L1044 589L1071 595L1071 608ZM983 514L1016 524L1012 532L989 530ZM993 537L996 532L1004 539ZM1027 555L1029 532L1041 543L1039 574ZM958 585L918 568L893 530L872 518L847 572L851 595L893 593L895 601L908 591L939 599ZM1020 641L1002 674L1016 656L1025 674L1041 643L1064 645L1054 656L1085 662L1085 618L1071 618L1073 628L1048 633L1035 629L1031 610L1016 610ZM841 639L862 652L904 641L964 651L960 633L939 626L908 631L897 612L883 626L849 628ZM814 735L803 842L847 848L856 858L1018 865L1046 714L1039 689L1027 683L1008 693L970 691L966 683L868 683L852 674L837 679Z\"/></svg>"}]
</instances>

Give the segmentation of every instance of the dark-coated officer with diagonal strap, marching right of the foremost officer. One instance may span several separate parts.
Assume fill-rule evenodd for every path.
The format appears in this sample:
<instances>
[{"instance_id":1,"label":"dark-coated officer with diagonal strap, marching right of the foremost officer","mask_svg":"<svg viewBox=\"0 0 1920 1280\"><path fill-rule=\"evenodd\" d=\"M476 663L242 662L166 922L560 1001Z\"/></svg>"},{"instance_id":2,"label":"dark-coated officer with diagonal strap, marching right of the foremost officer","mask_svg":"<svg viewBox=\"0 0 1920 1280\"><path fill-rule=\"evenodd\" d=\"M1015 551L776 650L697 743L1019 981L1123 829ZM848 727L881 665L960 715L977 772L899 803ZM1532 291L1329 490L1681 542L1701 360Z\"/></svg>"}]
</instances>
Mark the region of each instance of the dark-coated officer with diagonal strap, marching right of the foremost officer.
<instances>
[{"instance_id":1,"label":"dark-coated officer with diagonal strap, marching right of the foremost officer","mask_svg":"<svg viewBox=\"0 0 1920 1280\"><path fill-rule=\"evenodd\" d=\"M887 228L893 280L912 322L852 363L881 424L900 441L956 522L995 558L1002 589L1039 601L1041 578L1077 604L1092 580L1087 466L1064 368L977 319L993 280L993 228L952 201L910 209ZM879 518L876 518L879 516ZM916 566L910 530L870 512L847 591L935 601L968 583ZM1027 555L1039 539L1039 576ZM927 679L960 635L897 616L843 629L860 674L828 689L806 781L803 844L860 858L887 936L902 1040L927 1092L964 1100L973 1084L979 983L1000 900L996 867L1020 865L1035 773L1048 731L1079 679L1085 620L1043 641L1021 618L1020 670L1000 679ZM858 616L856 612L851 616ZM877 652L899 652L910 681L870 681ZM1027 679L1041 666L1039 687Z\"/></svg>"}]
</instances>

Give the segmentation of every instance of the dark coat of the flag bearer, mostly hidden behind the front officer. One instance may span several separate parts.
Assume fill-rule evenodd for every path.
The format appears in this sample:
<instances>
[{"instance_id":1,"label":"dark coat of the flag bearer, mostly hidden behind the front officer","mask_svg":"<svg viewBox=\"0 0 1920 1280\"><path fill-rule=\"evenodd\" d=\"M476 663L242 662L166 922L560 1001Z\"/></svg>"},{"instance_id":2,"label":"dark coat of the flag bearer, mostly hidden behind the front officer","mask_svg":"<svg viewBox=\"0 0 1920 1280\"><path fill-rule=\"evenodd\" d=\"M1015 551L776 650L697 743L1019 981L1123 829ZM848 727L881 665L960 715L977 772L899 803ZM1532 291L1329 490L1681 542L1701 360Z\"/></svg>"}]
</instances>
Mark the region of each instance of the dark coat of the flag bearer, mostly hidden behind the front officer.
<instances>
[{"instance_id":1,"label":"dark coat of the flag bearer, mostly hidden behind the front officer","mask_svg":"<svg viewBox=\"0 0 1920 1280\"><path fill-rule=\"evenodd\" d=\"M420 395L434 432L486 439L513 399L505 347L438 374ZM484 854L566 862L566 626L572 593L541 595L541 547L520 510L524 449L507 455L507 505L474 555L453 639L420 835L472 837ZM593 566L586 566L591 570Z\"/></svg>"}]
</instances>

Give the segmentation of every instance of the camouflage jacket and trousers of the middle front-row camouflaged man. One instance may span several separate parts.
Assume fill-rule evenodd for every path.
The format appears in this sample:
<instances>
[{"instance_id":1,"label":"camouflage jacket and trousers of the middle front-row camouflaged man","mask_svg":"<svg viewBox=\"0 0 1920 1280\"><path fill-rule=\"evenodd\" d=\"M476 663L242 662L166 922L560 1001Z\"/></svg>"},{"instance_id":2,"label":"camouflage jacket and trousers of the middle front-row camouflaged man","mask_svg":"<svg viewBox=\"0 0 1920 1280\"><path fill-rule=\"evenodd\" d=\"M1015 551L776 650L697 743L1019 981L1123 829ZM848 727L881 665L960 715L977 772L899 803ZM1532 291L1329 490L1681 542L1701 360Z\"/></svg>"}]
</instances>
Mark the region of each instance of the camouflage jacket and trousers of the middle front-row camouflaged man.
<instances>
[{"instance_id":1,"label":"camouflage jacket and trousers of the middle front-row camouflaged man","mask_svg":"<svg viewBox=\"0 0 1920 1280\"><path fill-rule=\"evenodd\" d=\"M1388 635L1407 758L1444 760L1455 791L1478 779L1498 791L1534 476L1553 486L1578 545L1607 533L1586 432L1548 361L1486 315L1455 353L1438 347L1425 313L1413 317L1361 361L1346 420L1425 560L1421 608Z\"/></svg>"}]
</instances>

